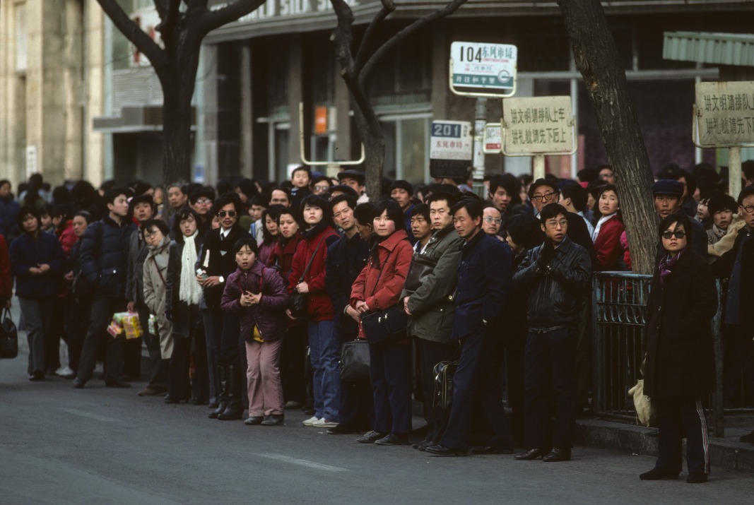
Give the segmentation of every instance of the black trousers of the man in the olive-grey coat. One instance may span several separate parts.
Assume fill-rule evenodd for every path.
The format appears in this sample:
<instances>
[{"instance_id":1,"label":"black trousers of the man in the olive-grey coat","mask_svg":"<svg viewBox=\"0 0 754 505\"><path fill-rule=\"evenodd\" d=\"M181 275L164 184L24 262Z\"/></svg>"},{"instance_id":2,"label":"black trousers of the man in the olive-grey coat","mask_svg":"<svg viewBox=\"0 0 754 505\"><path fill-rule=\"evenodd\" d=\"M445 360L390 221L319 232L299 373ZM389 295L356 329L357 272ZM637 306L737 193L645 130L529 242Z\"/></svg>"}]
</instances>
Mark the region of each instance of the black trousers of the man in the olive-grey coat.
<instances>
[{"instance_id":1,"label":"black trousers of the man in the olive-grey coat","mask_svg":"<svg viewBox=\"0 0 754 505\"><path fill-rule=\"evenodd\" d=\"M419 384L421 395L424 397L425 413L429 424L429 433L425 437L435 440L440 436L440 430L445 426L446 412L439 406L434 406L434 366L440 361L452 360L455 350L458 349L456 342L443 344L415 338L416 354L418 355Z\"/></svg>"}]
</instances>

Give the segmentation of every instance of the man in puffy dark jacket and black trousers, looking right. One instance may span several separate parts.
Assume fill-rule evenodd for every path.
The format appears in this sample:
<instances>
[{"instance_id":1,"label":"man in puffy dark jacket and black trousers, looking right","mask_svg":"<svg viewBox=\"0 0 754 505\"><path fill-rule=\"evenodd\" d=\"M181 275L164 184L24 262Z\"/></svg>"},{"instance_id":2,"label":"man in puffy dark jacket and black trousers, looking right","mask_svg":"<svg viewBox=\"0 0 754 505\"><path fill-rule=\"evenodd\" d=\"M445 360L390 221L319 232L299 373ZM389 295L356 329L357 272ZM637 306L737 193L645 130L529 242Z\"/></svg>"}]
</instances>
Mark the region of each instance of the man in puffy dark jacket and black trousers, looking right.
<instances>
[{"instance_id":1,"label":"man in puffy dark jacket and black trousers, looking right","mask_svg":"<svg viewBox=\"0 0 754 505\"><path fill-rule=\"evenodd\" d=\"M81 274L94 287L89 329L81 349L81 361L73 386L84 387L94 371L97 350L107 347L105 384L107 387L130 387L123 381L123 344L121 337L107 332L112 314L127 308L126 274L128 245L136 225L128 217L128 190L112 188L104 200L108 215L92 223L81 238Z\"/></svg>"}]
</instances>

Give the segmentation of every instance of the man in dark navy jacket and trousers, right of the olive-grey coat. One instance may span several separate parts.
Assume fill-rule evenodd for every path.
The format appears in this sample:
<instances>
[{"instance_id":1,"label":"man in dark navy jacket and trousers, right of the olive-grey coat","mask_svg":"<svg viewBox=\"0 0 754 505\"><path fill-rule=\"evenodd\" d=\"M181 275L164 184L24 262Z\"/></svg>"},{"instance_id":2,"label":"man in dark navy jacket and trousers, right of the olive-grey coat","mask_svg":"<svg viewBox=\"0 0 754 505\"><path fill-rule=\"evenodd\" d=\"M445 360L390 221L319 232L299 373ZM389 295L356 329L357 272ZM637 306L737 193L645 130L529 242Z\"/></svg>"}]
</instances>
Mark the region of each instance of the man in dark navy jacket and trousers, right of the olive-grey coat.
<instances>
[{"instance_id":1,"label":"man in dark navy jacket and trousers, right of the olive-grey coat","mask_svg":"<svg viewBox=\"0 0 754 505\"><path fill-rule=\"evenodd\" d=\"M492 429L486 446L475 454L510 454L513 433L505 415L500 370L494 364L495 339L500 335L501 313L511 295L510 248L482 231L483 202L466 197L451 210L461 245L455 319L451 339L461 342L461 358L453 378L453 404L448 424L437 445L427 452L435 456L465 456L474 400L479 396L483 415Z\"/></svg>"}]
</instances>

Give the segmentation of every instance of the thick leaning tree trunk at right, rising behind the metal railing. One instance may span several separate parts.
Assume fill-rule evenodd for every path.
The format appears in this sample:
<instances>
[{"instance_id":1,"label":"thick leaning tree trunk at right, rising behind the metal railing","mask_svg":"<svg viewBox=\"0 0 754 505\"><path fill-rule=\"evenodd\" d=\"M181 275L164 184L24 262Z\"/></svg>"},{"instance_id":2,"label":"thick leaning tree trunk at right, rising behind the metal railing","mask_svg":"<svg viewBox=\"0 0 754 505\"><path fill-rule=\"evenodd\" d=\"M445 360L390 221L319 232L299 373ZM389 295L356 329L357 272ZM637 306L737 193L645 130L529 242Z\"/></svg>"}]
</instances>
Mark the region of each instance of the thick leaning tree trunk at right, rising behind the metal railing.
<instances>
[{"instance_id":1,"label":"thick leaning tree trunk at right, rising behind the metal railing","mask_svg":"<svg viewBox=\"0 0 754 505\"><path fill-rule=\"evenodd\" d=\"M632 270L651 274L658 223L650 191L654 179L618 47L599 0L559 0L558 4L615 173Z\"/></svg>"}]
</instances>

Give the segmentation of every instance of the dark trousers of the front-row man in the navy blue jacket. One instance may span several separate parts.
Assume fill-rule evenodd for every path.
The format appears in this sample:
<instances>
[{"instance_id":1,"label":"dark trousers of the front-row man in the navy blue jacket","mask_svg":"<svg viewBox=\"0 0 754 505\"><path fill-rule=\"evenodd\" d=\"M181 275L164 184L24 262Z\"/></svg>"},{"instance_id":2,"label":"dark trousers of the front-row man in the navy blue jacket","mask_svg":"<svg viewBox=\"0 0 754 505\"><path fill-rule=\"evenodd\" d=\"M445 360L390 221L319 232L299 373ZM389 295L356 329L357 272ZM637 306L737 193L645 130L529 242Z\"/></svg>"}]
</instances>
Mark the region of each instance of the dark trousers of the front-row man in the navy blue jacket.
<instances>
[{"instance_id":1,"label":"dark trousers of the front-row man in the navy blue jacket","mask_svg":"<svg viewBox=\"0 0 754 505\"><path fill-rule=\"evenodd\" d=\"M513 433L503 407L501 358L495 356L495 349L499 349L498 338L500 335L482 329L461 341L461 358L453 376L453 405L448 425L440 438L443 447L467 450L474 403L478 399L483 417L493 433L486 445L513 448Z\"/></svg>"}]
</instances>

